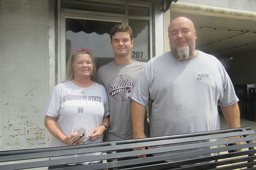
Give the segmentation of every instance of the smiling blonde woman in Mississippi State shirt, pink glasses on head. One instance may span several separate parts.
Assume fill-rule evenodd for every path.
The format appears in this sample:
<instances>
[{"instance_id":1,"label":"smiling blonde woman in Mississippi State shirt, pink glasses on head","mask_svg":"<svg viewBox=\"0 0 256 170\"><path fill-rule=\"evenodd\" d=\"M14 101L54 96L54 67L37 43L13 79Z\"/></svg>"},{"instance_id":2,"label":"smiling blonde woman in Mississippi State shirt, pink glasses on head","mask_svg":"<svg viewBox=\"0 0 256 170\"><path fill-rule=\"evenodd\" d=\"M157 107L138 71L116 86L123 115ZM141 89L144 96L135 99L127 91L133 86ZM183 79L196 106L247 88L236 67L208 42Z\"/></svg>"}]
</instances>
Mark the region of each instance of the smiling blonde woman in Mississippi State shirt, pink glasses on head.
<instances>
[{"instance_id":1,"label":"smiling blonde woman in Mississippi State shirt, pink glasses on head","mask_svg":"<svg viewBox=\"0 0 256 170\"><path fill-rule=\"evenodd\" d=\"M54 88L45 109L45 127L53 135L52 147L71 145L71 138L80 129L84 129L84 134L94 133L83 144L102 142L102 134L109 126L108 96L105 87L94 82L95 75L95 60L90 50L75 49L68 60L65 82ZM83 155L61 158L79 156ZM82 164L88 163L91 162Z\"/></svg>"}]
</instances>

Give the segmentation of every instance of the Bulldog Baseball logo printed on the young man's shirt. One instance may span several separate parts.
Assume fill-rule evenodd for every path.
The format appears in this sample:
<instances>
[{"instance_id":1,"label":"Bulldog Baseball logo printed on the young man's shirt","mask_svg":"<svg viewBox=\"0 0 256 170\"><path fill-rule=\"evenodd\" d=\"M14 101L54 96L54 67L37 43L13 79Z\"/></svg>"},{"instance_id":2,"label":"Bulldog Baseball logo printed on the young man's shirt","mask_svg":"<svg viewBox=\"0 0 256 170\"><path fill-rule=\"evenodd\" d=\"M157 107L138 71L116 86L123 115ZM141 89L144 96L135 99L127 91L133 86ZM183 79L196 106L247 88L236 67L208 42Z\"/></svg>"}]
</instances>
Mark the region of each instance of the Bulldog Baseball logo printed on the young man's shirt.
<instances>
[{"instance_id":1,"label":"Bulldog Baseball logo printed on the young man's shirt","mask_svg":"<svg viewBox=\"0 0 256 170\"><path fill-rule=\"evenodd\" d=\"M127 75L118 75L108 83L108 94L120 102L131 99L129 95L135 83Z\"/></svg>"}]
</instances>

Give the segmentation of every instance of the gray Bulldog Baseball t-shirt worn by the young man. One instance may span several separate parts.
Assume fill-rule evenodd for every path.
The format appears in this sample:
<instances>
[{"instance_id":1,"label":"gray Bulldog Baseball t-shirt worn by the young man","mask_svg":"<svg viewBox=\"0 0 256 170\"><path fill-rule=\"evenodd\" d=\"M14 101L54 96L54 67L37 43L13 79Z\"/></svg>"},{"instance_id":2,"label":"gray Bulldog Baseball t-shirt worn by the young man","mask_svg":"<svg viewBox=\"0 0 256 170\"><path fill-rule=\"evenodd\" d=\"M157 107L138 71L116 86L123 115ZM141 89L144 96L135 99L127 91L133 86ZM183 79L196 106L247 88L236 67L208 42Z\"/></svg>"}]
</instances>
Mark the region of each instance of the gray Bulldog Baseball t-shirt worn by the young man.
<instances>
[{"instance_id":1,"label":"gray Bulldog Baseball t-shirt worn by the young man","mask_svg":"<svg viewBox=\"0 0 256 170\"><path fill-rule=\"evenodd\" d=\"M110 124L106 141L132 139L132 100L129 95L145 64L132 60L128 64L119 65L112 61L99 68L97 82L106 87L109 99Z\"/></svg>"}]
</instances>

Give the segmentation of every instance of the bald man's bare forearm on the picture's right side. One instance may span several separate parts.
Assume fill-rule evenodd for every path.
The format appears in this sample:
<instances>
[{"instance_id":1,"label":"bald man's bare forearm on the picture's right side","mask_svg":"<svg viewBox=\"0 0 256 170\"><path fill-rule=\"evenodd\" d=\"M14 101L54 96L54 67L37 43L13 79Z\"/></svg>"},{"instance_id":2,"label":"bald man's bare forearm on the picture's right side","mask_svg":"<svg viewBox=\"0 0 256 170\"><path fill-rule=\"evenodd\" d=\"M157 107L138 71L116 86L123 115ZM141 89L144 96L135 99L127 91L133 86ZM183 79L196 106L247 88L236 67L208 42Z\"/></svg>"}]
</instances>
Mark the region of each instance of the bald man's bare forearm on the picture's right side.
<instances>
[{"instance_id":1,"label":"bald man's bare forearm on the picture's right side","mask_svg":"<svg viewBox=\"0 0 256 170\"><path fill-rule=\"evenodd\" d=\"M239 107L238 104L235 103L231 106L228 107L221 107L222 113L226 119L227 125L229 125L229 128L238 128L241 127L240 126L240 111L239 111ZM238 137L229 137L227 139L233 139L233 138L240 138ZM237 142L234 143L234 145L241 145L243 144L243 142ZM235 150L235 151L241 151L241 149L239 150Z\"/></svg>"}]
</instances>

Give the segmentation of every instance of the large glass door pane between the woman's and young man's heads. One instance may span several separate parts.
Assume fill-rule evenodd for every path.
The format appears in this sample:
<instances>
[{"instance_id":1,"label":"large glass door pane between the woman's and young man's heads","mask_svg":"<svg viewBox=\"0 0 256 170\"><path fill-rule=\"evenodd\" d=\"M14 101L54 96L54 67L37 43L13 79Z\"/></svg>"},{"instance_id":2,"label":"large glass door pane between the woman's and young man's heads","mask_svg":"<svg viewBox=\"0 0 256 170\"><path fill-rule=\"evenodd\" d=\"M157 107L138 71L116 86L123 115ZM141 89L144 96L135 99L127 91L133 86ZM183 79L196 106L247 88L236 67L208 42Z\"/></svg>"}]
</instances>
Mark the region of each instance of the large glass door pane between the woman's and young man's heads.
<instances>
[{"instance_id":1,"label":"large glass door pane between the woman's and young man's heads","mask_svg":"<svg viewBox=\"0 0 256 170\"><path fill-rule=\"evenodd\" d=\"M66 19L66 64L75 48L90 48L98 67L113 60L110 30L120 24L109 21Z\"/></svg>"}]
</instances>

